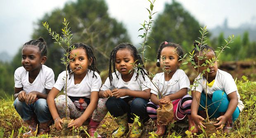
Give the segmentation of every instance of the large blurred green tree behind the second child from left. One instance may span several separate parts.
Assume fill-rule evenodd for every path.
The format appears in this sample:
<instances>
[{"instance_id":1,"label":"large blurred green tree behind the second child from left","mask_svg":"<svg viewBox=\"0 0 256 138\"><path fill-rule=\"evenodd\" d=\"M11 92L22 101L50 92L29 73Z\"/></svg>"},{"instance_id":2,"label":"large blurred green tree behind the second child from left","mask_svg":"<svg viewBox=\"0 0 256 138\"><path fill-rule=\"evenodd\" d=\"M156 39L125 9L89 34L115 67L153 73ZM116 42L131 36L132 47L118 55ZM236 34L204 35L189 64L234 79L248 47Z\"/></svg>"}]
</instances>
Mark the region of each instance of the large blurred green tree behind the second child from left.
<instances>
[{"instance_id":1,"label":"large blurred green tree behind the second child from left","mask_svg":"<svg viewBox=\"0 0 256 138\"><path fill-rule=\"evenodd\" d=\"M67 2L63 9L55 9L39 19L33 31L33 39L43 37L47 42L49 52L46 65L54 70L55 78L64 70L60 63L64 51L54 43L42 22L47 21L52 30L60 33L64 17L69 20L74 34L72 43L82 42L92 47L100 70L108 69L109 54L113 47L121 42L130 42L123 24L109 16L104 0Z\"/></svg>"}]
</instances>

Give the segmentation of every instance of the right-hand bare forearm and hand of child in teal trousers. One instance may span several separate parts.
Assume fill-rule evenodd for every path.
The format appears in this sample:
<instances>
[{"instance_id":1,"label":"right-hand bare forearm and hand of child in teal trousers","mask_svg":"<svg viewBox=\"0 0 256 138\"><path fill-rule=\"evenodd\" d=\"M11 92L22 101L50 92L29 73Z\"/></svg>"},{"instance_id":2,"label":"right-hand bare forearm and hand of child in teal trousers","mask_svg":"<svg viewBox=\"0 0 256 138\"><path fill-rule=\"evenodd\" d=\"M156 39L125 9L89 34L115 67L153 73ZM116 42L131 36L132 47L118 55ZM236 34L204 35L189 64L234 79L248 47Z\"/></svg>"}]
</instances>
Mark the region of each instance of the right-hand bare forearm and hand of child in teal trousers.
<instances>
[{"instance_id":1,"label":"right-hand bare forearm and hand of child in teal trousers","mask_svg":"<svg viewBox=\"0 0 256 138\"><path fill-rule=\"evenodd\" d=\"M232 116L232 114L235 112L235 109L237 108L237 92L234 91L228 94L228 99L230 100L228 104L228 110L225 112L224 115L217 118L217 120L219 121L217 124L215 124L216 126L219 126L218 128L216 128L217 130L223 128L223 125L227 122L228 118Z\"/></svg>"}]
</instances>

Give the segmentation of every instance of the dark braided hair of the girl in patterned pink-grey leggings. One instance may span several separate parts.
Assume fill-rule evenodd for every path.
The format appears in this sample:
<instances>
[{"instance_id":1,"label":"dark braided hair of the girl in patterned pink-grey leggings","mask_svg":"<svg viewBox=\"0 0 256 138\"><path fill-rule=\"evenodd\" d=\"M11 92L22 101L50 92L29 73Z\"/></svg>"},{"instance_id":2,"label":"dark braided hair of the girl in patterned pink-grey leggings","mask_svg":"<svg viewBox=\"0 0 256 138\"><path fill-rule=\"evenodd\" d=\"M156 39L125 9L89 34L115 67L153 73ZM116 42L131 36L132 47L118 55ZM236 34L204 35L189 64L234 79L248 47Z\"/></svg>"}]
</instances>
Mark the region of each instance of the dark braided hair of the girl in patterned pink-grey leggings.
<instances>
[{"instance_id":1,"label":"dark braided hair of the girl in patterned pink-grey leggings","mask_svg":"<svg viewBox=\"0 0 256 138\"><path fill-rule=\"evenodd\" d=\"M80 43L80 44L76 43L76 44L70 46L68 49L66 49L66 52L69 53L71 51L71 49L73 48L73 46L75 47L75 49L82 48L82 49L85 50L85 53L86 53L87 58L89 60L88 69L93 71L93 76L92 77L95 76L97 78L97 76L94 74L94 72L96 71L97 73L100 74L100 71L96 68L96 58L93 55L92 48L89 47L88 45L85 45L85 44L82 44L82 43ZM69 58L69 57L70 57L70 55L68 57L66 57L66 59ZM92 61L90 59L92 59ZM71 73L69 63L68 63L68 71L69 71L69 73ZM69 76L69 79L70 79L70 76Z\"/></svg>"}]
</instances>

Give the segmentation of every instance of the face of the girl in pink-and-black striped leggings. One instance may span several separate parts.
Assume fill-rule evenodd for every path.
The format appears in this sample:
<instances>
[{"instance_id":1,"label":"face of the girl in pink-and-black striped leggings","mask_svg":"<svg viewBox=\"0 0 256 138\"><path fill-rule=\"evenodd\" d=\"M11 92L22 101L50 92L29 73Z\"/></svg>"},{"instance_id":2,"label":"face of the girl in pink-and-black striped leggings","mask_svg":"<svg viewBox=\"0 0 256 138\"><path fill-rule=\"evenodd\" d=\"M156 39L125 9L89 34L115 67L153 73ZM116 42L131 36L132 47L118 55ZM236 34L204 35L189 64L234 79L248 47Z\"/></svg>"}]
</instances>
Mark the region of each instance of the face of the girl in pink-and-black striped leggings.
<instances>
[{"instance_id":1,"label":"face of the girl in pink-and-black striped leggings","mask_svg":"<svg viewBox=\"0 0 256 138\"><path fill-rule=\"evenodd\" d=\"M166 72L175 72L180 65L178 58L174 47L164 47L161 51L161 68L164 68Z\"/></svg>"}]
</instances>

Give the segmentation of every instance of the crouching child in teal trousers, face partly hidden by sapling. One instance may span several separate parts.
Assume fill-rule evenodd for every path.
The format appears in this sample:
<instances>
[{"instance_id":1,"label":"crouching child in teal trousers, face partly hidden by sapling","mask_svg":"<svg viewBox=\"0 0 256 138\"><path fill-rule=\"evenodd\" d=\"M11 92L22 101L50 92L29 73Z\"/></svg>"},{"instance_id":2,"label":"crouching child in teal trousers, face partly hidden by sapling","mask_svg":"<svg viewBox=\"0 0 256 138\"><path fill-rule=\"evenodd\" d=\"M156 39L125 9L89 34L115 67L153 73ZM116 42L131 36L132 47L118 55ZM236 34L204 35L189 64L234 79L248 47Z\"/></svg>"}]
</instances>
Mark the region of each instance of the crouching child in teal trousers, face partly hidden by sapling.
<instances>
[{"instance_id":1,"label":"crouching child in teal trousers, face partly hidden by sapling","mask_svg":"<svg viewBox=\"0 0 256 138\"><path fill-rule=\"evenodd\" d=\"M196 48L192 50L195 55L195 63L200 65L199 68L195 68L195 70L199 70L200 74L196 79L197 82L194 82L194 86L192 87L192 117L199 128L200 126L206 128L202 124L202 120L206 118L206 112L201 106L205 107L206 105L207 91L207 105L210 105L208 115L211 118L217 118L219 121L214 124L217 126L216 130L222 129L225 124L223 131L229 132L233 127L232 122L242 112L244 104L240 101L240 95L234 79L229 73L218 69L217 61L214 62L214 65L209 65L206 64L205 59L198 60L199 52L200 56L206 56L207 60L214 60L216 58L214 49L208 45L199 45L199 47L201 47L201 51L198 51ZM203 63L206 66L203 66ZM210 69L210 72L205 71L203 74L203 70L207 68ZM195 87L196 83L198 84L197 87ZM201 106L199 106L197 101L200 101Z\"/></svg>"}]
</instances>

